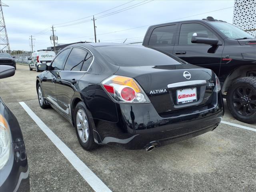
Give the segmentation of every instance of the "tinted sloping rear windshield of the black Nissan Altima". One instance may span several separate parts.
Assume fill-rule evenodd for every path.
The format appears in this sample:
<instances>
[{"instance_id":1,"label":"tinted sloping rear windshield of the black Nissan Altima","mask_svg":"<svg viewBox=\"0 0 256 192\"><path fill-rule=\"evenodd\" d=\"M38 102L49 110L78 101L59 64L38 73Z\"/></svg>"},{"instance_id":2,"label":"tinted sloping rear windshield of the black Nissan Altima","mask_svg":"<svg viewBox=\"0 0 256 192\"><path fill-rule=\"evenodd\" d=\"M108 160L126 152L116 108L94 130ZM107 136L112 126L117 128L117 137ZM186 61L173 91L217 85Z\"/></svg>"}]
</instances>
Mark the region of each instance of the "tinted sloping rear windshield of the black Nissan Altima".
<instances>
[{"instance_id":1,"label":"tinted sloping rear windshield of the black Nissan Altima","mask_svg":"<svg viewBox=\"0 0 256 192\"><path fill-rule=\"evenodd\" d=\"M144 46L102 46L97 48L118 66L159 66L181 64L178 60ZM112 62L112 63L113 63Z\"/></svg>"}]
</instances>

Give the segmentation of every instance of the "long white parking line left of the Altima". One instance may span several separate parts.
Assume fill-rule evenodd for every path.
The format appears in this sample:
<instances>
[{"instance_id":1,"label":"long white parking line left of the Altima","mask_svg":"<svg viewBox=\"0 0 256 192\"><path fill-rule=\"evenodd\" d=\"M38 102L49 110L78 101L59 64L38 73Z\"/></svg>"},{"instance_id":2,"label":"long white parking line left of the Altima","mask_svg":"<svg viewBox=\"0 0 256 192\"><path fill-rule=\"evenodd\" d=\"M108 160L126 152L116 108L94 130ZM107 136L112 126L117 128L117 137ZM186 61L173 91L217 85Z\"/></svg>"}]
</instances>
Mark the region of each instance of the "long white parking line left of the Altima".
<instances>
[{"instance_id":1,"label":"long white parking line left of the Altima","mask_svg":"<svg viewBox=\"0 0 256 192\"><path fill-rule=\"evenodd\" d=\"M112 192L24 102L19 103L95 192Z\"/></svg>"}]
</instances>

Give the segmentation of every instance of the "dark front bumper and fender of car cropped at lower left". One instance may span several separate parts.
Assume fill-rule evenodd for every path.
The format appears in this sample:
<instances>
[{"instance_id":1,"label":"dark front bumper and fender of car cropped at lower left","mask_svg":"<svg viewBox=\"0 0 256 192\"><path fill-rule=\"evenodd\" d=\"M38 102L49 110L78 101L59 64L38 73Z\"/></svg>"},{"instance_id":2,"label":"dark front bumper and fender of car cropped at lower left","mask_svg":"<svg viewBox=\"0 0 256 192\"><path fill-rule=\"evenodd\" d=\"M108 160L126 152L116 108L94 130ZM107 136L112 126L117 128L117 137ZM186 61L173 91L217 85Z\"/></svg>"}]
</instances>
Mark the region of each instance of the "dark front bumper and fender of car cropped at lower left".
<instances>
[{"instance_id":1,"label":"dark front bumper and fender of car cropped at lower left","mask_svg":"<svg viewBox=\"0 0 256 192\"><path fill-rule=\"evenodd\" d=\"M8 122L12 136L10 159L0 170L0 191L28 192L30 191L30 179L22 132L16 117L4 104L2 98L0 98L0 114Z\"/></svg>"}]
</instances>

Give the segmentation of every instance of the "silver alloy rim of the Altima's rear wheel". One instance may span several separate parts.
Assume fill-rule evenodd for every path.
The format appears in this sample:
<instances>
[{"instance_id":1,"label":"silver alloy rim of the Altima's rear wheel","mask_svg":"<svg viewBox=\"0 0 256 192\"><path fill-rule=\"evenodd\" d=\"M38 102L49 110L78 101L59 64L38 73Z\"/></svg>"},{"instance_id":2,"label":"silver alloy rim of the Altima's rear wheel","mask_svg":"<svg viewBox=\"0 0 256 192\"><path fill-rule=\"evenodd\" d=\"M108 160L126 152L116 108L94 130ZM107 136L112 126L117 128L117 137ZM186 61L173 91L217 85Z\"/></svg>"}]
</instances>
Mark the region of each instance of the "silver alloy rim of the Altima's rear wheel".
<instances>
[{"instance_id":1,"label":"silver alloy rim of the Altima's rear wheel","mask_svg":"<svg viewBox=\"0 0 256 192\"><path fill-rule=\"evenodd\" d=\"M76 129L80 140L86 143L89 138L89 124L84 110L79 109L76 113Z\"/></svg>"}]
</instances>

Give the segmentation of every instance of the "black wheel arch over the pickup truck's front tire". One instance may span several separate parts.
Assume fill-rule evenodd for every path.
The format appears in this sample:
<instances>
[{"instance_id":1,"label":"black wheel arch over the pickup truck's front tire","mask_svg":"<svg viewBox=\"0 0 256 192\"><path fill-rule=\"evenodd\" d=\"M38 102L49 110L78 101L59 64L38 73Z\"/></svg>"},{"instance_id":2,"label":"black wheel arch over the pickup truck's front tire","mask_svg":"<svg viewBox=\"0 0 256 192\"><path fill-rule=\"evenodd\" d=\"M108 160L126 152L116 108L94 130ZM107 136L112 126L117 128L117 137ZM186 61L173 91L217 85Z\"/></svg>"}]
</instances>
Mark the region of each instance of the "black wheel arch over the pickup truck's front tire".
<instances>
[{"instance_id":1,"label":"black wheel arch over the pickup truck's front tire","mask_svg":"<svg viewBox=\"0 0 256 192\"><path fill-rule=\"evenodd\" d=\"M232 70L227 78L225 79L224 83L222 84L222 94L226 91L228 91L230 85L234 80L241 78L241 77L246 77L248 76L249 73L254 74L256 76L256 66L252 65L247 65L247 66L240 66L234 70Z\"/></svg>"}]
</instances>

